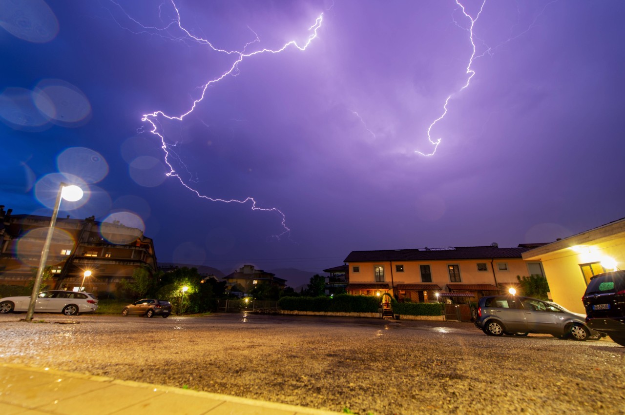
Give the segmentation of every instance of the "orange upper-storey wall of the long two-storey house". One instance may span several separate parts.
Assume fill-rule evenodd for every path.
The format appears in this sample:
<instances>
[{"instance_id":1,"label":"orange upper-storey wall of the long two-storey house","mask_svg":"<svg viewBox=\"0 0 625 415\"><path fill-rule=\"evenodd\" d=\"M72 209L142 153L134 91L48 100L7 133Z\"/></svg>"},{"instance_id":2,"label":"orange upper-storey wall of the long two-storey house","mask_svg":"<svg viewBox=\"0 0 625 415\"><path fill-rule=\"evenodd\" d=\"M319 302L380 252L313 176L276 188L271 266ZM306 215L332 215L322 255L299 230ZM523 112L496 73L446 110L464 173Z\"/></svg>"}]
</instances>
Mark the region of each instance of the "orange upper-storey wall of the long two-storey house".
<instances>
[{"instance_id":1,"label":"orange upper-storey wall of the long two-storey house","mask_svg":"<svg viewBox=\"0 0 625 415\"><path fill-rule=\"evenodd\" d=\"M497 283L516 283L517 275L527 276L527 263L536 261L524 261L521 258L494 260L492 266L495 269ZM487 271L477 271L477 263L486 263ZM507 271L500 271L497 263L506 263ZM391 284L420 284L421 281L421 265L429 265L432 275L432 283L445 288L447 284L453 284L449 281L449 271L447 266L458 265L460 269L461 283L468 284L495 284L495 278L492 275L491 260L437 260L437 261L386 261L386 262L354 262L349 263L349 283L373 283L375 281L374 266L384 266L384 282ZM397 272L396 265L403 265L404 272ZM354 272L353 267L358 266L359 272Z\"/></svg>"}]
</instances>

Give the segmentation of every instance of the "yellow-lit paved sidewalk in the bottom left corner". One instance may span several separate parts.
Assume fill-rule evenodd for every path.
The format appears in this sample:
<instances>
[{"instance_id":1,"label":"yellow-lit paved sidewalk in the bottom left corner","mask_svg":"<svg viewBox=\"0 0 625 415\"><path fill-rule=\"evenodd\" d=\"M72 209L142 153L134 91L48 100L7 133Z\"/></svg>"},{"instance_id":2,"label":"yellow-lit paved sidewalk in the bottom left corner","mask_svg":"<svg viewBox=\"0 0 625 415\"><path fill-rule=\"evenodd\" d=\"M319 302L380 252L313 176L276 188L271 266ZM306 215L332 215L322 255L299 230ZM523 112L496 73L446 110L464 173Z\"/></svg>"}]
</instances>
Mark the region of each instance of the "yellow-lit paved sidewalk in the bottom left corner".
<instances>
[{"instance_id":1,"label":"yellow-lit paved sidewalk in the bottom left corner","mask_svg":"<svg viewBox=\"0 0 625 415\"><path fill-rule=\"evenodd\" d=\"M0 414L336 414L104 376L0 364Z\"/></svg>"}]
</instances>

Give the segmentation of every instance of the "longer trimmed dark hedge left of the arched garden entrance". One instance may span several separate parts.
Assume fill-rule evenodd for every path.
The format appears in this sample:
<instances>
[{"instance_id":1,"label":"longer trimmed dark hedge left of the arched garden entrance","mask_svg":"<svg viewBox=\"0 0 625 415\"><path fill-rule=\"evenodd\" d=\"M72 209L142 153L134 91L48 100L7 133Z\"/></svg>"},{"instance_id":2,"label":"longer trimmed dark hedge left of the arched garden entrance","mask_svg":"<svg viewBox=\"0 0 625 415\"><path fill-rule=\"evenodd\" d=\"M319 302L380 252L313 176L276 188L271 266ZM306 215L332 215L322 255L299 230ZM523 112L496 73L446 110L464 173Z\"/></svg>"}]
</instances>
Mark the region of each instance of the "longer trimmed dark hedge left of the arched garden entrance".
<instances>
[{"instance_id":1,"label":"longer trimmed dark hedge left of the arched garden entrance","mask_svg":"<svg viewBox=\"0 0 625 415\"><path fill-rule=\"evenodd\" d=\"M282 297L277 305L288 311L337 311L342 313L377 313L380 299L366 295L339 294L333 297Z\"/></svg>"}]
</instances>

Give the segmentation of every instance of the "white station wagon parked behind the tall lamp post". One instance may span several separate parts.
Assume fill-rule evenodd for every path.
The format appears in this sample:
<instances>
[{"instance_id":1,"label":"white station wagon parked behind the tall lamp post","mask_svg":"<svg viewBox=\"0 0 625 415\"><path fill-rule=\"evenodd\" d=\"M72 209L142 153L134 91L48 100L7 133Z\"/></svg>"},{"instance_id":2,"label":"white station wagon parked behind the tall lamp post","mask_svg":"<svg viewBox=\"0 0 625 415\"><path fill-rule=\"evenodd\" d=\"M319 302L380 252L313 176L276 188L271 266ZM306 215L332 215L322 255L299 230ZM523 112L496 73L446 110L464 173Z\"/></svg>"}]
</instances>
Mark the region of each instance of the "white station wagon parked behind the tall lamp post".
<instances>
[{"instance_id":1,"label":"white station wagon parked behind the tall lamp post","mask_svg":"<svg viewBox=\"0 0 625 415\"><path fill-rule=\"evenodd\" d=\"M0 313L28 311L31 296L0 298ZM93 313L98 310L98 299L84 291L42 291L35 300L36 312L63 313L66 316L78 313Z\"/></svg>"}]
</instances>

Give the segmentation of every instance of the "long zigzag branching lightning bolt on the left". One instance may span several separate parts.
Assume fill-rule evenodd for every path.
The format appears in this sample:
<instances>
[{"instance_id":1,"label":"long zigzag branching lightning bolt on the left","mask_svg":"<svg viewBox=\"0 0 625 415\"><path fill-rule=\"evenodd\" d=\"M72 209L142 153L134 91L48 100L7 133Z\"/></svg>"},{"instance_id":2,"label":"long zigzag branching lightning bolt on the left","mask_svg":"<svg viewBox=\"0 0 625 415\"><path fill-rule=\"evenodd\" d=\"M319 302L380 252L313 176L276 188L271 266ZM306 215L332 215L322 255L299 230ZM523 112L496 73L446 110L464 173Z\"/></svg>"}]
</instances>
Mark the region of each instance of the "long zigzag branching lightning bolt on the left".
<instances>
[{"instance_id":1,"label":"long zigzag branching lightning bolt on the left","mask_svg":"<svg viewBox=\"0 0 625 415\"><path fill-rule=\"evenodd\" d=\"M122 9L122 11L124 11L123 8L118 3L113 2L113 4L116 4L116 6L118 6L120 9ZM307 49L307 47L311 44L311 42L317 37L317 32L321 28L321 23L322 23L322 20L323 20L323 14L320 14L319 17L317 17L317 19L315 20L314 24L312 24L312 26L310 26L308 28L309 35L306 38L306 41L303 42L301 45L298 44L296 41L289 41L289 42L286 42L284 45L282 45L282 47L280 47L279 49L263 48L263 49L259 49L257 51L247 52L247 47L249 47L251 44L254 44L256 42L260 42L260 39L257 36L257 34L250 29L252 31L252 33L254 33L254 36L256 37L254 39L254 41L247 42L247 44L245 44L245 46L243 47L243 49L241 51L226 51L225 49L220 49L219 47L214 46L214 44L212 44L207 39L204 39L204 38L198 37L198 36L194 36L193 34L191 34L191 32L189 32L183 26L183 24L181 23L181 15L180 15L180 11L178 9L178 6L176 6L176 4L175 4L175 2L173 0L171 0L171 4L174 7L175 17L174 17L173 21L169 22L164 27L143 26L141 23L139 23L139 21L137 21L136 19L133 19L132 17L130 17L128 15L128 13L126 13L125 11L124 11L124 14L126 14L126 16L128 16L129 19L131 19L131 21L133 21L134 23L138 24L143 29L143 32L148 32L149 34L155 34L155 32L156 32L156 34L158 34L159 36L168 37L169 39L173 39L174 41L181 41L183 39L186 39L186 40L189 40L191 42L197 42L199 44L204 44L204 45L210 47L212 49L212 51L219 52L219 53L222 53L222 54L232 55L232 56L236 57L236 59L234 60L234 62L232 62L232 65L229 67L229 69L227 69L225 72L223 72L220 76L217 76L216 78L207 81L204 85L201 85L201 87L200 87L201 94L200 94L199 98L194 99L192 101L192 104L190 105L189 109L186 110L186 112L183 112L183 113L178 114L178 115L168 115L168 114L165 114L161 110L156 110L156 111L154 111L154 112L152 112L150 114L143 114L141 120L143 122L148 122L151 125L151 129L149 129L149 132L151 132L151 134L156 135L161 140L161 149L163 149L163 152L164 152L164 161L165 161L165 164L167 164L168 167L169 167L169 172L166 173L166 175L168 177L178 178L178 180L181 183L181 185L186 187L189 191L194 193L199 198L210 200L211 202L241 203L241 204L251 203L251 210L259 210L259 211L262 211L262 212L274 212L274 213L277 213L279 215L279 217L281 217L281 225L282 225L282 230L283 231L279 235L274 235L274 237L279 239L283 235L285 235L287 233L290 233L291 230L286 226L286 217L285 217L284 213L282 213L282 211L279 210L278 208L262 208L262 207L259 207L259 206L257 206L256 200L254 198L252 198L252 197L246 197L246 198L243 198L241 200L234 199L234 198L226 200L226 199L214 198L214 197L209 197L207 195L203 195L198 190L196 190L195 188L191 187L191 185L189 185L181 177L181 175L179 175L179 173L176 172L176 169L173 167L173 165L170 162L170 157L173 157L174 159L177 159L179 161L181 161L181 160L180 160L179 156L176 154L176 152L174 152L174 150L173 150L173 147L175 147L176 144L169 144L166 141L165 134L163 132L163 126L161 124L161 120L167 119L167 120L182 121L185 117L187 117L187 115L192 114L192 112L194 112L194 110L196 109L197 105L200 102L202 102L202 100L204 100L204 97L206 97L206 90L208 89L208 87L213 85L213 84L216 84L219 81L221 81L226 76L237 76L239 74L239 64L241 64L241 62L243 62L246 59L250 59L253 56L256 56L256 55L259 55L259 54L278 54L278 53L284 51L285 49L287 49L289 47L296 47L300 51L305 51ZM159 11L160 11L160 7L159 7ZM118 22L118 24L119 24L119 22ZM178 29L180 29L184 33L184 35L182 37L171 37L171 36L168 36L168 34L164 34L164 33L168 33L166 31L168 31L169 29L171 29L173 27L178 27ZM124 29L128 29L128 28L124 27Z\"/></svg>"}]
</instances>

